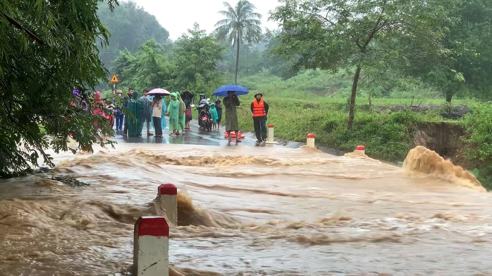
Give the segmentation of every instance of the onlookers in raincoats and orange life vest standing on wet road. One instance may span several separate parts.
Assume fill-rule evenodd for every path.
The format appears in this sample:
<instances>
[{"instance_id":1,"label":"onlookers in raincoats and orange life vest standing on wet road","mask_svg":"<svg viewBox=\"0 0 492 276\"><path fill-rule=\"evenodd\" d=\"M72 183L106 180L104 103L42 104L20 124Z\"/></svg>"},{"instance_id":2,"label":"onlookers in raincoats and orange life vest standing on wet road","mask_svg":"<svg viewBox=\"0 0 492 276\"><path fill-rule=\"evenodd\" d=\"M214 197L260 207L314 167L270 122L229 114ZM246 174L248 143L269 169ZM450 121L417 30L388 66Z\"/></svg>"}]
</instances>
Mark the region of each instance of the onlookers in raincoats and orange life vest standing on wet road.
<instances>
[{"instance_id":1,"label":"onlookers in raincoats and orange life vest standing on wet road","mask_svg":"<svg viewBox=\"0 0 492 276\"><path fill-rule=\"evenodd\" d=\"M179 92L171 93L170 102L166 109L166 103L161 96L150 96L148 95L148 90L144 90L143 96L139 97L138 92L130 88L128 89L128 96L124 97L125 107L129 111L126 115L123 114L122 107L118 107L117 104L118 98L122 96L123 91L118 90L113 103L116 107L114 113L116 130L122 130L123 128L123 136L142 136L143 126L146 123L147 136L154 136L151 133L151 124L153 124L155 137L162 137L162 130L166 128L166 119L164 117L166 112L169 114L169 130L172 131L169 134L170 136L181 135L181 132L184 132L184 130L191 129L191 105L194 96L190 91L184 91L182 94ZM250 110L253 117L256 142L260 143L267 139L266 121L269 106L262 99L262 93L258 92L254 97L255 99L250 105ZM203 93L200 94L199 102L201 101L207 101ZM228 91L227 97L223 98L223 105L225 107L225 131L227 132L227 137L231 141L230 135L234 132L236 134L236 141L241 142L237 113L237 107L240 106L240 101L234 91ZM213 128L220 129L222 102L220 99L216 99L215 103L212 103L210 106L209 112L214 122Z\"/></svg>"}]
</instances>

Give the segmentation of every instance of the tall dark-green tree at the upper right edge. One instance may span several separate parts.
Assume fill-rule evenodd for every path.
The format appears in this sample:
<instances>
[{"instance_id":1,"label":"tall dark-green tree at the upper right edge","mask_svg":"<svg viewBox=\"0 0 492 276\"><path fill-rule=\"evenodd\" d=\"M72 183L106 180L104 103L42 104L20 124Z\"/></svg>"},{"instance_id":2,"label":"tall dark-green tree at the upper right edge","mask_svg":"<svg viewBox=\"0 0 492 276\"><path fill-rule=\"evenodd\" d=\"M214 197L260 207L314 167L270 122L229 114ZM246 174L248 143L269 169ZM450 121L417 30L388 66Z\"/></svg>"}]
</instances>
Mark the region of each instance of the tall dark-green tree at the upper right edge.
<instances>
[{"instance_id":1,"label":"tall dark-green tree at the upper right edge","mask_svg":"<svg viewBox=\"0 0 492 276\"><path fill-rule=\"evenodd\" d=\"M456 20L444 22L442 44L450 51L434 62L416 64L413 73L453 95L492 99L492 0L456 0L450 6Z\"/></svg>"}]
</instances>

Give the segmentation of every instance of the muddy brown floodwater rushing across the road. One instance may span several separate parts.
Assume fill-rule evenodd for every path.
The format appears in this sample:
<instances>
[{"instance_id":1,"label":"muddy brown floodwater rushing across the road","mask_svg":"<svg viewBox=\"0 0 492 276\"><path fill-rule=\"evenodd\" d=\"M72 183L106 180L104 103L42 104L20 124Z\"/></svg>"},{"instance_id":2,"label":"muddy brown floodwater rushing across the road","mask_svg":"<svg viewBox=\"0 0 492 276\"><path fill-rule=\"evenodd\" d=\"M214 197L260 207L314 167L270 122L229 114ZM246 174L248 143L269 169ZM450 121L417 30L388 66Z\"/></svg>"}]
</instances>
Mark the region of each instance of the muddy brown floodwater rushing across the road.
<instances>
[{"instance_id":1,"label":"muddy brown floodwater rushing across the road","mask_svg":"<svg viewBox=\"0 0 492 276\"><path fill-rule=\"evenodd\" d=\"M252 154L255 154L252 156ZM171 275L487 275L491 195L426 148L404 167L306 147L120 144L55 156L91 185L0 183L0 275L119 275L133 223L179 188Z\"/></svg>"}]
</instances>

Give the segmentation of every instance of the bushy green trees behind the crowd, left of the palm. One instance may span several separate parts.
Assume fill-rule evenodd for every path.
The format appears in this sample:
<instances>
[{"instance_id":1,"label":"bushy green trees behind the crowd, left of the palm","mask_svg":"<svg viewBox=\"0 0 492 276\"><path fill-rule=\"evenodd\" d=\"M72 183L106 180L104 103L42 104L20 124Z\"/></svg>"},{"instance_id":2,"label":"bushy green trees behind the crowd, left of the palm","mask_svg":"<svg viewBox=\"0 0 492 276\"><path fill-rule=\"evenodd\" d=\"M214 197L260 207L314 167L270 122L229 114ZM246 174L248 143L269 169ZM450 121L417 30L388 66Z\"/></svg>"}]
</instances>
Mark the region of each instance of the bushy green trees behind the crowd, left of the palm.
<instances>
[{"instance_id":1,"label":"bushy green trees behind the crowd, left of the palm","mask_svg":"<svg viewBox=\"0 0 492 276\"><path fill-rule=\"evenodd\" d=\"M119 76L120 89L164 88L169 91L190 90L210 93L223 85L223 74L215 69L223 59L224 48L211 35L195 24L188 34L180 37L173 50L151 39L132 55L124 50L113 61L113 71Z\"/></svg>"}]
</instances>

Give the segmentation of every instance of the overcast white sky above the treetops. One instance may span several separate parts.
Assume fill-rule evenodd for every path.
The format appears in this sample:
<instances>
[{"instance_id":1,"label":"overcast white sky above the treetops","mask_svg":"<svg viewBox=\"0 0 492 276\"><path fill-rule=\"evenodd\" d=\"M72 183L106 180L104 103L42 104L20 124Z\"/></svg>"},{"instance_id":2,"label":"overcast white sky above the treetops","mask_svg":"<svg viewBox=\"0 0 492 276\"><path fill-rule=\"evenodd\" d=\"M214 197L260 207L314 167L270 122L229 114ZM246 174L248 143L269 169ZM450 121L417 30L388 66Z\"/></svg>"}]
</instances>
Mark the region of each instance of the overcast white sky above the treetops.
<instances>
[{"instance_id":1,"label":"overcast white sky above the treetops","mask_svg":"<svg viewBox=\"0 0 492 276\"><path fill-rule=\"evenodd\" d=\"M154 15L162 27L169 31L169 38L177 39L188 29L193 28L193 23L200 24L201 29L212 32L214 25L223 17L217 12L224 9L223 0L134 0L137 5ZM278 5L277 0L249 0L256 6L256 11L263 15L262 27L276 29L278 24L269 21L268 12ZM228 1L235 6L237 0Z\"/></svg>"}]
</instances>

